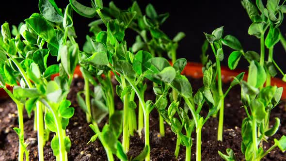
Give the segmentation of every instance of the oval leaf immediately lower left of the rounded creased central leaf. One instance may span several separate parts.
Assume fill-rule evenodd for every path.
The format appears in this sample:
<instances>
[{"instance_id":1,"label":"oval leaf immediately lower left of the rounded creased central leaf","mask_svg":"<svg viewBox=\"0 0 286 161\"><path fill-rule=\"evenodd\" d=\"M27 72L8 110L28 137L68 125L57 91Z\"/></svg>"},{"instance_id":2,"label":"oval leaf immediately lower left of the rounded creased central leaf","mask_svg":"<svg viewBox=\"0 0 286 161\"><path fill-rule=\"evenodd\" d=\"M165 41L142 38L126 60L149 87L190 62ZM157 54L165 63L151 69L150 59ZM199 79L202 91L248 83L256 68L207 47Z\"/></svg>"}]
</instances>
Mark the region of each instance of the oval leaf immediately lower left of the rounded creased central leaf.
<instances>
[{"instance_id":1,"label":"oval leaf immediately lower left of the rounded creased central leaf","mask_svg":"<svg viewBox=\"0 0 286 161\"><path fill-rule=\"evenodd\" d=\"M127 78L134 79L136 77L136 72L133 70L132 65L126 61L116 61L114 68L118 73L123 74Z\"/></svg>"}]
</instances>

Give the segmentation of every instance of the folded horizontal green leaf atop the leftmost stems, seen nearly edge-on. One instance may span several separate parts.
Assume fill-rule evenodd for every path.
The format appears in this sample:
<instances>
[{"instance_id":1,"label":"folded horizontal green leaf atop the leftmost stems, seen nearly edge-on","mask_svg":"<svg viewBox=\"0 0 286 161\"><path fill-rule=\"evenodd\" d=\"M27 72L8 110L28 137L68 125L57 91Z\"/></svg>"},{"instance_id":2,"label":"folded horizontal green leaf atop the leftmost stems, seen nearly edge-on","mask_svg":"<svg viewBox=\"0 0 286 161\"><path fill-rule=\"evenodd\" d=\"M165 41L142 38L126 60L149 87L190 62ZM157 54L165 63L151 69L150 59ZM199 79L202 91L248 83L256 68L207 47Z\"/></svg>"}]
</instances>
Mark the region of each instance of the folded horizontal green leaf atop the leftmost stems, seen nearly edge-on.
<instances>
[{"instance_id":1,"label":"folded horizontal green leaf atop the leftmost stems, seen nearly edge-on","mask_svg":"<svg viewBox=\"0 0 286 161\"><path fill-rule=\"evenodd\" d=\"M16 98L33 98L39 97L40 93L35 88L21 88L20 86L14 86L13 95Z\"/></svg>"}]
</instances>

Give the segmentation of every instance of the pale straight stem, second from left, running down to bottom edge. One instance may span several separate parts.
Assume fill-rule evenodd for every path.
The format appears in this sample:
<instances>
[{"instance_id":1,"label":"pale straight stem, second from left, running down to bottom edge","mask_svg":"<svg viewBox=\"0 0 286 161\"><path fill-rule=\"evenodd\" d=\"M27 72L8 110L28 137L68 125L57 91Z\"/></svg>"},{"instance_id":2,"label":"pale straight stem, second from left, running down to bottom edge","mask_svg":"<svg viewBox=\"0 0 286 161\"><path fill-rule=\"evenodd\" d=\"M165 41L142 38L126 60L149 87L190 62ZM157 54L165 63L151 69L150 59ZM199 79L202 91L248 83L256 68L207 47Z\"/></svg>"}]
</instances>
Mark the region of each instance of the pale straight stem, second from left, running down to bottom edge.
<instances>
[{"instance_id":1,"label":"pale straight stem, second from left, running down to bottom edge","mask_svg":"<svg viewBox=\"0 0 286 161\"><path fill-rule=\"evenodd\" d=\"M38 156L39 156L39 161L44 161L44 119L43 119L43 104L38 101L36 103L36 108L37 108L37 129L38 129Z\"/></svg>"}]
</instances>

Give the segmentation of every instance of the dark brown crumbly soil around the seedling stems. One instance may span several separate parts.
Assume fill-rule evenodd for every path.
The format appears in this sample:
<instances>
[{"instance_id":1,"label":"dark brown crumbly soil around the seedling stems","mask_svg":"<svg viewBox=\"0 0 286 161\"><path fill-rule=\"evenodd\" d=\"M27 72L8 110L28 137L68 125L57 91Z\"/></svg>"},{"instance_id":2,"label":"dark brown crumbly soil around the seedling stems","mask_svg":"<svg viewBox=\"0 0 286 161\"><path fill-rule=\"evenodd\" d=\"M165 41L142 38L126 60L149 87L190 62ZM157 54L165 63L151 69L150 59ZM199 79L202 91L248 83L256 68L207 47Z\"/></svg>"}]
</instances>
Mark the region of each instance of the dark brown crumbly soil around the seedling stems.
<instances>
[{"instance_id":1,"label":"dark brown crumbly soil around the seedling stems","mask_svg":"<svg viewBox=\"0 0 286 161\"><path fill-rule=\"evenodd\" d=\"M190 82L193 91L197 91L202 86L202 80L191 79ZM76 100L76 94L83 89L83 80L75 79L71 88L68 99L71 100L72 106L75 108L75 115L70 119L66 129L66 135L70 137L72 146L68 153L70 161L107 161L107 157L101 143L96 140L94 143L86 145L94 132L88 127L85 121L85 113L79 108ZM224 84L225 89L228 84ZM145 100L155 99L152 88L147 89ZM119 98L115 98L116 108L122 109L123 104ZM241 135L240 127L243 118L246 117L245 111L241 107L240 87L234 87L225 99L224 114L224 132L223 142L217 141L218 118L211 117L202 130L202 161L222 161L218 155L218 150L225 153L227 148L232 148L236 153L237 160L243 161L244 156L240 151ZM207 113L208 108L204 107L202 114ZM268 149L273 145L273 139L279 139L282 135L286 135L286 111L285 104L281 104L272 110L271 117L279 117L281 127L279 131L269 138L269 143L264 142L263 148ZM33 131L33 115L28 118L24 113L25 141L29 143L30 161L37 161L37 134ZM176 161L174 152L176 144L176 135L171 131L169 126L165 126L165 136L159 134L158 113L154 110L150 114L150 158L152 161ZM99 127L102 128L108 121L108 117L102 120ZM270 125L274 120L270 120ZM16 161L18 155L18 136L12 129L17 127L17 111L16 105L10 99L0 100L0 161ZM143 134L143 131L142 131ZM50 140L53 133L50 133ZM130 150L128 156L137 156L144 147L144 138L137 133L130 137ZM195 135L193 136L193 145L191 149L191 160L195 160ZM44 159L47 161L55 161L50 142L44 147ZM116 158L116 157L114 157ZM178 160L185 159L185 148L181 146ZM275 148L263 159L263 161L286 161L286 155L279 148Z\"/></svg>"}]
</instances>

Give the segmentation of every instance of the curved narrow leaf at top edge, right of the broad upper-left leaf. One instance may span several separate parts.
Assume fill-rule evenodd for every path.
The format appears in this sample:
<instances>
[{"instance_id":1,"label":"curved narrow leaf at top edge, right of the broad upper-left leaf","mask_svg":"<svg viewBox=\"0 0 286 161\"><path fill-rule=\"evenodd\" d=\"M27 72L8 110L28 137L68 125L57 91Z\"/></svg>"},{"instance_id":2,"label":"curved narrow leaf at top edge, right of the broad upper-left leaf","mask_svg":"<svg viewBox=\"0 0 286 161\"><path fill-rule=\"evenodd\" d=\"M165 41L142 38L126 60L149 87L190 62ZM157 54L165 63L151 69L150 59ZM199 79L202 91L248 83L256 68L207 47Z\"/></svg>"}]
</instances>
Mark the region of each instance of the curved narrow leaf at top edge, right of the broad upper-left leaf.
<instances>
[{"instance_id":1,"label":"curved narrow leaf at top edge, right of the broad upper-left leaf","mask_svg":"<svg viewBox=\"0 0 286 161\"><path fill-rule=\"evenodd\" d=\"M96 9L93 7L87 7L80 4L77 0L69 0L69 3L73 9L81 16L94 17L96 15Z\"/></svg>"}]
</instances>

